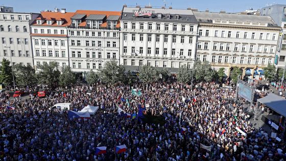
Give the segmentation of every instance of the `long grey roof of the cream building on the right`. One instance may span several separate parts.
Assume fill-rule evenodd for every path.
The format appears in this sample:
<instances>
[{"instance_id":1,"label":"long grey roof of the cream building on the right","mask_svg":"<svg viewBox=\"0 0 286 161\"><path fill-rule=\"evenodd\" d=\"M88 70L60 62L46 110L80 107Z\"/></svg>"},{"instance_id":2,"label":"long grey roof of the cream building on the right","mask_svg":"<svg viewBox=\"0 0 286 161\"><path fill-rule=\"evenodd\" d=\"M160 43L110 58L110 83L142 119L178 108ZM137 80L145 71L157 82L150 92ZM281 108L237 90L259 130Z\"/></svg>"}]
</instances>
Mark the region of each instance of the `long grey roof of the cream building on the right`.
<instances>
[{"instance_id":1,"label":"long grey roof of the cream building on the right","mask_svg":"<svg viewBox=\"0 0 286 161\"><path fill-rule=\"evenodd\" d=\"M270 16L244 15L234 13L198 12L194 11L198 22L213 23L216 20L264 23L268 26L277 26Z\"/></svg>"}]
</instances>

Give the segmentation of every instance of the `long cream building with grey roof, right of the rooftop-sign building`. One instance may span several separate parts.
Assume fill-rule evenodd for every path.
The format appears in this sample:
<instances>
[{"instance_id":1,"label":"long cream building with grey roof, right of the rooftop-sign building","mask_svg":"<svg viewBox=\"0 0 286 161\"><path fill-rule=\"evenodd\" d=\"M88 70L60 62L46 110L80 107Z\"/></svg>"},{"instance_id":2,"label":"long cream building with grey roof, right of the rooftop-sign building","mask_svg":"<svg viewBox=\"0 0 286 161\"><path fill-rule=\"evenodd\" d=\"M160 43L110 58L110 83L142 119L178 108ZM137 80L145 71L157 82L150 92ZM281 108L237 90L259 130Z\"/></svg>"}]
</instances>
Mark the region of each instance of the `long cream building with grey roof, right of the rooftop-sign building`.
<instances>
[{"instance_id":1,"label":"long cream building with grey roof, right of the rooftop-sign building","mask_svg":"<svg viewBox=\"0 0 286 161\"><path fill-rule=\"evenodd\" d=\"M243 76L259 78L274 63L280 27L270 16L197 12L199 22L196 60L209 61L215 70L233 66Z\"/></svg>"}]
</instances>

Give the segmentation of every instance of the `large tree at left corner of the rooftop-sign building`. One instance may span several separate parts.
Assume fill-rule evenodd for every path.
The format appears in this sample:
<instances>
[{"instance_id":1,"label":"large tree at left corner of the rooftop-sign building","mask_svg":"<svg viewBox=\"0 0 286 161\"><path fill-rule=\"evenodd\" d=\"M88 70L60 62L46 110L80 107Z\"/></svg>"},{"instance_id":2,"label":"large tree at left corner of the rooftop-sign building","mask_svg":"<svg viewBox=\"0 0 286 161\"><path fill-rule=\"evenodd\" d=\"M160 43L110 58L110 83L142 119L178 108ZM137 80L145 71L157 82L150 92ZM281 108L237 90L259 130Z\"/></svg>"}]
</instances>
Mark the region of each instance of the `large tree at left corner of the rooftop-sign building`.
<instances>
[{"instance_id":1,"label":"large tree at left corner of the rooftop-sign building","mask_svg":"<svg viewBox=\"0 0 286 161\"><path fill-rule=\"evenodd\" d=\"M117 61L111 60L105 63L100 70L100 79L105 83L115 84L117 82L124 82L125 67L117 65Z\"/></svg>"}]
</instances>

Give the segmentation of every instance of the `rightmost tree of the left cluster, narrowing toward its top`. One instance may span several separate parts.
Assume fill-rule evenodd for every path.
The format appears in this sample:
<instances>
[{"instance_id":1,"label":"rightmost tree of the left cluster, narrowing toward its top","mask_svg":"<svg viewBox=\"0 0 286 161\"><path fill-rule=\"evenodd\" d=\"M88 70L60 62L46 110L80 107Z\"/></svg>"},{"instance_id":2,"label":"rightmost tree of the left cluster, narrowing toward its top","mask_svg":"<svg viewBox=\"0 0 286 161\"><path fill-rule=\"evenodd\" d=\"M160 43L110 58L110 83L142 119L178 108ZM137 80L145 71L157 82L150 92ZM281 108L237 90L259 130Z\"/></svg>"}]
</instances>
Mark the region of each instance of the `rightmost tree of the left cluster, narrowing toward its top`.
<instances>
[{"instance_id":1,"label":"rightmost tree of the left cluster, narrowing toward its top","mask_svg":"<svg viewBox=\"0 0 286 161\"><path fill-rule=\"evenodd\" d=\"M71 71L69 66L63 68L62 74L59 78L59 84L62 87L73 85L77 82L75 72Z\"/></svg>"}]
</instances>

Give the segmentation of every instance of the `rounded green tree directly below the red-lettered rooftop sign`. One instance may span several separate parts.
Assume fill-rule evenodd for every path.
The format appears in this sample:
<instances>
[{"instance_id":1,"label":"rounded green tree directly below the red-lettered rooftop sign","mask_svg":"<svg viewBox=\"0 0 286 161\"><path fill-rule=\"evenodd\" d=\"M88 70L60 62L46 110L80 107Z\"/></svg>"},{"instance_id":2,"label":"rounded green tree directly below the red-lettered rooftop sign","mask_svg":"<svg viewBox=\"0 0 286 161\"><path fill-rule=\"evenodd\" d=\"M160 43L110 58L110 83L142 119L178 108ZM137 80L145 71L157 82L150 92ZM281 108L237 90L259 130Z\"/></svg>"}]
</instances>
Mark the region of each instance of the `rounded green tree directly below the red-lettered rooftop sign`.
<instances>
[{"instance_id":1,"label":"rounded green tree directly below the red-lettered rooftop sign","mask_svg":"<svg viewBox=\"0 0 286 161\"><path fill-rule=\"evenodd\" d=\"M139 79L142 82L156 82L159 80L159 72L153 66L144 65L139 71Z\"/></svg>"}]
</instances>

